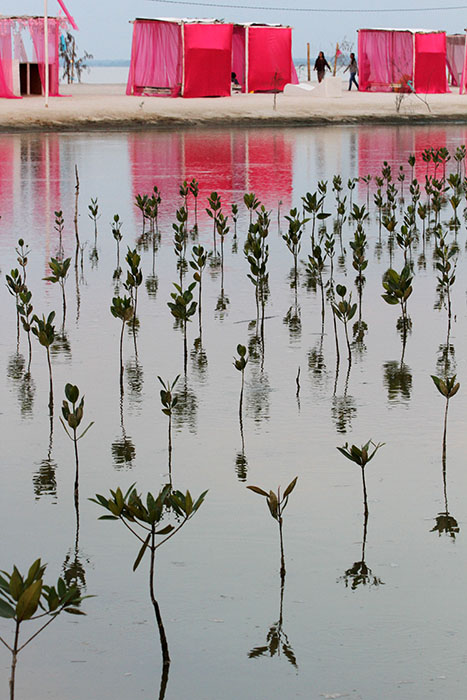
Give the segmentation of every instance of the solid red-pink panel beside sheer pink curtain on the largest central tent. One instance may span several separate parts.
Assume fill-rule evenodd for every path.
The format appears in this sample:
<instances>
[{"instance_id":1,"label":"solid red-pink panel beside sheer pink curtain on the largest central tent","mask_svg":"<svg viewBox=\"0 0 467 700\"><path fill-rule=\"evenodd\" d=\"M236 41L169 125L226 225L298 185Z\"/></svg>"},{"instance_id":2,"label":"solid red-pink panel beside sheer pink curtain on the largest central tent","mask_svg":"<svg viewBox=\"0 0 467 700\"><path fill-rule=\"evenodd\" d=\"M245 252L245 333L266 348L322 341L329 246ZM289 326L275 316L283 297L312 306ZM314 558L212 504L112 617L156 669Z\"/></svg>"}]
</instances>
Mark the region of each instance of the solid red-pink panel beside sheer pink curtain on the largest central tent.
<instances>
[{"instance_id":1,"label":"solid red-pink panel beside sheer pink curtain on the largest central tent","mask_svg":"<svg viewBox=\"0 0 467 700\"><path fill-rule=\"evenodd\" d=\"M183 97L227 97L232 72L232 24L185 24Z\"/></svg>"}]
</instances>

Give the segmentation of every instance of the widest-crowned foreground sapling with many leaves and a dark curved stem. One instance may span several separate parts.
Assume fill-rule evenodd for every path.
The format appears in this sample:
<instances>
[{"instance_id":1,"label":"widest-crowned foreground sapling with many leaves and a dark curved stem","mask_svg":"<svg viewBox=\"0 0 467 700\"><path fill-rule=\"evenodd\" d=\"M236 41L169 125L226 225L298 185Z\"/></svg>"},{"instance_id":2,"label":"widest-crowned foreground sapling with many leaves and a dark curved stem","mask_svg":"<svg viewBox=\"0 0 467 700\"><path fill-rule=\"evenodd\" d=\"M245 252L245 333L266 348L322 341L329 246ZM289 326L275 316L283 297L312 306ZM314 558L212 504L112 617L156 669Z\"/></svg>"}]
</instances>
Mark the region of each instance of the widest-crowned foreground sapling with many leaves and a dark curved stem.
<instances>
[{"instance_id":1,"label":"widest-crowned foreground sapling with many leaves and a dark curved stem","mask_svg":"<svg viewBox=\"0 0 467 700\"><path fill-rule=\"evenodd\" d=\"M143 499L133 485L125 494L117 488L115 491L110 491L110 498L96 494L95 498L90 499L110 513L102 515L99 520L120 520L141 542L142 546L133 564L133 571L136 571L146 551L149 551L149 596L159 630L162 663L166 673L170 665L170 655L159 604L155 596L156 551L191 520L203 503L206 493L207 491L204 491L196 500L193 500L189 491L185 494L181 491L173 491L171 485L167 484L157 496L148 492ZM176 524L164 525L163 520L170 516L176 520ZM158 536L163 539L157 541Z\"/></svg>"}]
</instances>

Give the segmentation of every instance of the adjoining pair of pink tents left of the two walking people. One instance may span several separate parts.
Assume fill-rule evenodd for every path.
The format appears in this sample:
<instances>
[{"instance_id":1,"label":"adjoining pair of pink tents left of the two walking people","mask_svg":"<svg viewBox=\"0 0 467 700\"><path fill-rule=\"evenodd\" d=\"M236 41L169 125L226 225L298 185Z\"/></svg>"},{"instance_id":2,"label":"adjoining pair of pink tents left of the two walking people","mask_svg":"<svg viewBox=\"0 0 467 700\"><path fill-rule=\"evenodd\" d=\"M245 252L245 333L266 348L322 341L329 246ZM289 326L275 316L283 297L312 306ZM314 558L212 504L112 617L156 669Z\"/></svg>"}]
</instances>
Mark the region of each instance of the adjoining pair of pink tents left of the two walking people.
<instances>
[{"instance_id":1,"label":"adjoining pair of pink tents left of the two walking people","mask_svg":"<svg viewBox=\"0 0 467 700\"><path fill-rule=\"evenodd\" d=\"M127 95L224 97L297 83L292 30L217 20L136 19Z\"/></svg>"}]
</instances>

